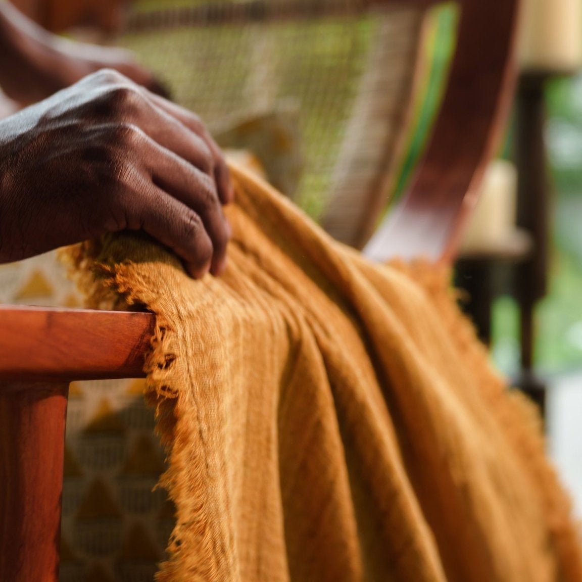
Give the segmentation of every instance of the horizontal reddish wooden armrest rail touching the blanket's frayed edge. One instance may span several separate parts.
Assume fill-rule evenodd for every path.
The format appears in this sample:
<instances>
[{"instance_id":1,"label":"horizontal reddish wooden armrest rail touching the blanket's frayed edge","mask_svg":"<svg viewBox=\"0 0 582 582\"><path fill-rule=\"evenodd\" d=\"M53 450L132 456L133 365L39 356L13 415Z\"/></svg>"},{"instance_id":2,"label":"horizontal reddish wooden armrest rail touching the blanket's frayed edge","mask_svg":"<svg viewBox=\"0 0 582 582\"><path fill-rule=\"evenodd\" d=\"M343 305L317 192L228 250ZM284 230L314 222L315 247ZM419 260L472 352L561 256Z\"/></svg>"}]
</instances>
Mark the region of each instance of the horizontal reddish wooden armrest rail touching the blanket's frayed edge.
<instances>
[{"instance_id":1,"label":"horizontal reddish wooden armrest rail touching the blanket's frayed edge","mask_svg":"<svg viewBox=\"0 0 582 582\"><path fill-rule=\"evenodd\" d=\"M151 313L0 306L0 380L143 377Z\"/></svg>"}]
</instances>

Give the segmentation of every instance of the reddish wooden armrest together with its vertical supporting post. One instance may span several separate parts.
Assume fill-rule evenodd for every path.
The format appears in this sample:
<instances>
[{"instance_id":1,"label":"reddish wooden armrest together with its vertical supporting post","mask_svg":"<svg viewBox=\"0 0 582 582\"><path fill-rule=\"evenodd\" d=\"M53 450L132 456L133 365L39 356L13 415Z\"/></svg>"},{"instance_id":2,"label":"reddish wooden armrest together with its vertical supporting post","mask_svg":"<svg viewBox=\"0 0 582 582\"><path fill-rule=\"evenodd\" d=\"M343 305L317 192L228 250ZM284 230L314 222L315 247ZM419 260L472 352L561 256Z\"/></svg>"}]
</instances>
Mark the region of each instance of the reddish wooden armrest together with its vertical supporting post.
<instances>
[{"instance_id":1,"label":"reddish wooden armrest together with its vertical supporting post","mask_svg":"<svg viewBox=\"0 0 582 582\"><path fill-rule=\"evenodd\" d=\"M68 384L143 377L155 315L0 306L0 580L58 582Z\"/></svg>"}]
</instances>

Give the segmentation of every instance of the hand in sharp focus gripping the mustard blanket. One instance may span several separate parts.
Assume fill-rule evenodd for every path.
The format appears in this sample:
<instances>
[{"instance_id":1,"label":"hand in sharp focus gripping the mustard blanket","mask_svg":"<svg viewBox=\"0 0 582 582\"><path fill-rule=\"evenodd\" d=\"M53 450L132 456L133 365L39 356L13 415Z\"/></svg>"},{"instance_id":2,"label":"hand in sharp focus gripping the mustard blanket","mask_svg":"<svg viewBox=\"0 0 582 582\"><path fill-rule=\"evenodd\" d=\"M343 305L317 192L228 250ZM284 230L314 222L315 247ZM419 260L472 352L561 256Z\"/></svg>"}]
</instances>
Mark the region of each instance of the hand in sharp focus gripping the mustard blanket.
<instances>
[{"instance_id":1,"label":"hand in sharp focus gripping the mustard blanket","mask_svg":"<svg viewBox=\"0 0 582 582\"><path fill-rule=\"evenodd\" d=\"M232 198L200 119L112 70L0 120L0 262L143 229L218 275Z\"/></svg>"}]
</instances>

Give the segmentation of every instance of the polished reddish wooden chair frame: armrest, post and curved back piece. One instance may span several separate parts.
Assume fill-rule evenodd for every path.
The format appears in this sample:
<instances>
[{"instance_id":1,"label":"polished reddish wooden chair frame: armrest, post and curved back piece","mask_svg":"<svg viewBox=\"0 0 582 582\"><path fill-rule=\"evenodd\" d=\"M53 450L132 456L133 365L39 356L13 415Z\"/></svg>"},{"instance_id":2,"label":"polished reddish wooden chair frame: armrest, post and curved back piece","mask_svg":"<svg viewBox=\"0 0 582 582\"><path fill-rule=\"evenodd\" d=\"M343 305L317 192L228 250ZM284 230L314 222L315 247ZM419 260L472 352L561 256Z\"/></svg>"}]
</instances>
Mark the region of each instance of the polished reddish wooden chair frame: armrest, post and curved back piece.
<instances>
[{"instance_id":1,"label":"polished reddish wooden chair frame: armrest, post and curved back piece","mask_svg":"<svg viewBox=\"0 0 582 582\"><path fill-rule=\"evenodd\" d=\"M373 258L451 260L505 125L519 0L459 3L430 143L406 196L368 244ZM58 580L69 382L143 377L154 325L151 313L0 307L0 580Z\"/></svg>"}]
</instances>

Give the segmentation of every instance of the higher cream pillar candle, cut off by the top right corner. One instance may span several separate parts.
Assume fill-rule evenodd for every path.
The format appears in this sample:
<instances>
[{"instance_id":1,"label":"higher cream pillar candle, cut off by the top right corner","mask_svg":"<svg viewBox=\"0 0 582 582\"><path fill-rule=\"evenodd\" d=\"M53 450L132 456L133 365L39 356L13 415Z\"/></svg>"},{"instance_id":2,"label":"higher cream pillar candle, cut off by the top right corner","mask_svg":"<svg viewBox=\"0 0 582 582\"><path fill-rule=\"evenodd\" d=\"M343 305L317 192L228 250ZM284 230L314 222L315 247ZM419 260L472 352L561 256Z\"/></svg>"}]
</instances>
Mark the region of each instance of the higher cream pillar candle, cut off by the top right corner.
<instances>
[{"instance_id":1,"label":"higher cream pillar candle, cut off by the top right corner","mask_svg":"<svg viewBox=\"0 0 582 582\"><path fill-rule=\"evenodd\" d=\"M523 70L569 73L582 64L582 0L523 0Z\"/></svg>"}]
</instances>

